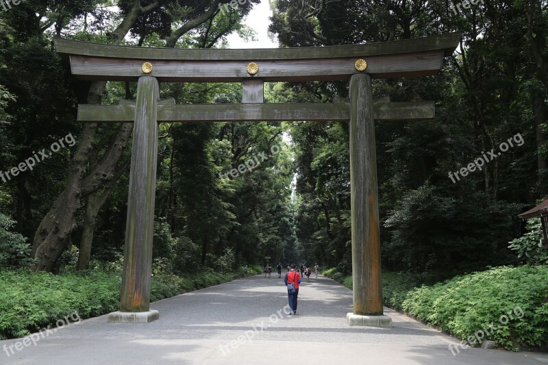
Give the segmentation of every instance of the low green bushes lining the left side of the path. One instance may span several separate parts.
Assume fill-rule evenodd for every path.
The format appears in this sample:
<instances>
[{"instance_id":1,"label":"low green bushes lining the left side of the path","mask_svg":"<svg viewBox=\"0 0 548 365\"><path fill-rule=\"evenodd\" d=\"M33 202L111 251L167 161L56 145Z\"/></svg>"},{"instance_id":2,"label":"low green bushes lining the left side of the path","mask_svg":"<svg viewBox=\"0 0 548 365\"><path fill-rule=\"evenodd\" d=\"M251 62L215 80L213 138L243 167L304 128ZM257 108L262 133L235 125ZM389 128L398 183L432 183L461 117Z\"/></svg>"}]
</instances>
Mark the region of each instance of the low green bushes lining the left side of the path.
<instances>
[{"instance_id":1,"label":"low green bushes lining the left side of the path","mask_svg":"<svg viewBox=\"0 0 548 365\"><path fill-rule=\"evenodd\" d=\"M27 336L56 320L77 312L80 318L99 316L119 309L121 290L119 263L103 265L103 271L88 270L62 275L0 270L0 339ZM249 266L249 275L260 273ZM201 270L192 275L153 275L151 301L191 290L221 284L243 276Z\"/></svg>"}]
</instances>

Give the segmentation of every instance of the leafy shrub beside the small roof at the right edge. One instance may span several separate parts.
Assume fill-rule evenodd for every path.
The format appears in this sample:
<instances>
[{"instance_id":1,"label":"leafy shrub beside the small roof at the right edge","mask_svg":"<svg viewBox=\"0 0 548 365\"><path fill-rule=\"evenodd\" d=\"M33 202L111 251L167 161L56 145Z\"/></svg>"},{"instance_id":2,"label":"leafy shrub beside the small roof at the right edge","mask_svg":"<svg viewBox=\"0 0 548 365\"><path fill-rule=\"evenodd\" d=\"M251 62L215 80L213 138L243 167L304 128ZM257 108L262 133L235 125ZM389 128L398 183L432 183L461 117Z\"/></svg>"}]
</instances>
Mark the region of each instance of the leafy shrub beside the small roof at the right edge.
<instances>
[{"instance_id":1,"label":"leafy shrub beside the small roof at the right edge","mask_svg":"<svg viewBox=\"0 0 548 365\"><path fill-rule=\"evenodd\" d=\"M540 244L544 237L540 218L527 221L527 233L511 240L508 248L516 251L518 258L527 264L548 264L548 250Z\"/></svg>"}]
</instances>

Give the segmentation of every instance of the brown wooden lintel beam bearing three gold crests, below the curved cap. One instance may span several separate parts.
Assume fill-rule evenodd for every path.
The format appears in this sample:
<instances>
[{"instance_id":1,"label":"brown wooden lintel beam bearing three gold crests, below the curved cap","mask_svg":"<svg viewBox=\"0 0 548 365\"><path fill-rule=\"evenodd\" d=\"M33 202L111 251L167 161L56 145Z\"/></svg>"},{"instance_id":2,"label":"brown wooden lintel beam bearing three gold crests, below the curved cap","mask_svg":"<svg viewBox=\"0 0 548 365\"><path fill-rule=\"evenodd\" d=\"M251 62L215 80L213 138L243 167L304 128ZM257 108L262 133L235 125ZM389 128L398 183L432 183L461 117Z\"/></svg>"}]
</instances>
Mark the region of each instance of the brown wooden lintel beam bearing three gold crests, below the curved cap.
<instances>
[{"instance_id":1,"label":"brown wooden lintel beam bearing three gold crests, below the curved cap","mask_svg":"<svg viewBox=\"0 0 548 365\"><path fill-rule=\"evenodd\" d=\"M436 75L443 66L443 50L375 55L366 58L366 73L376 78ZM99 58L71 55L71 71L80 79L135 81L146 59ZM151 76L166 82L314 81L349 79L358 73L356 58L256 60L258 75L247 73L247 61L155 60Z\"/></svg>"}]
</instances>

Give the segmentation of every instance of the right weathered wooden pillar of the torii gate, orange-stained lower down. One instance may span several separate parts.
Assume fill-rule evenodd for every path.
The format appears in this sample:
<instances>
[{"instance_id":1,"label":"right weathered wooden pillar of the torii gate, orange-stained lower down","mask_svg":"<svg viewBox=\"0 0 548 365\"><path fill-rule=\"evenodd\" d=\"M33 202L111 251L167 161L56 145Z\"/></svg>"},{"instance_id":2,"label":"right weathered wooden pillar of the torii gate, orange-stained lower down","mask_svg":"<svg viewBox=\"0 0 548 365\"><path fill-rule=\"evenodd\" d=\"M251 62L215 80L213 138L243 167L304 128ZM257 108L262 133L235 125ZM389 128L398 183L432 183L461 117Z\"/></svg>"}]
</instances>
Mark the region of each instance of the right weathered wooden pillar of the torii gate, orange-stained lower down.
<instances>
[{"instance_id":1,"label":"right weathered wooden pillar of the torii gate, orange-stained lower down","mask_svg":"<svg viewBox=\"0 0 548 365\"><path fill-rule=\"evenodd\" d=\"M371 77L350 80L350 190L353 312L383 314L377 158Z\"/></svg>"}]
</instances>

